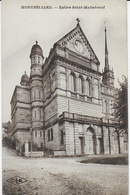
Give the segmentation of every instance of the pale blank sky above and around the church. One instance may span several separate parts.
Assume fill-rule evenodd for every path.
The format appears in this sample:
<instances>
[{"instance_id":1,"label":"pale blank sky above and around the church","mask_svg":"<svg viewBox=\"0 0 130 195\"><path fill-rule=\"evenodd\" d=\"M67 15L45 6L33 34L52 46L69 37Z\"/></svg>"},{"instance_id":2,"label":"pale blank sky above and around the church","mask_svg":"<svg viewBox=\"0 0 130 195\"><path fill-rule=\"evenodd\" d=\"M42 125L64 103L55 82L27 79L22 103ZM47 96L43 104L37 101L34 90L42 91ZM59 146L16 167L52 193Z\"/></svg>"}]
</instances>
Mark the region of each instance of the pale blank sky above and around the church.
<instances>
[{"instance_id":1,"label":"pale blank sky above and around the church","mask_svg":"<svg viewBox=\"0 0 130 195\"><path fill-rule=\"evenodd\" d=\"M86 3L85 3L86 2ZM21 9L21 6L52 9ZM104 9L59 9L59 6L105 6ZM57 7L57 8L55 8ZM75 28L81 28L104 68L105 37L109 64L117 79L127 76L127 20L125 0L3 0L2 1L2 121L11 120L10 101L24 71L30 75L30 51L36 40L46 58L53 44Z\"/></svg>"}]
</instances>

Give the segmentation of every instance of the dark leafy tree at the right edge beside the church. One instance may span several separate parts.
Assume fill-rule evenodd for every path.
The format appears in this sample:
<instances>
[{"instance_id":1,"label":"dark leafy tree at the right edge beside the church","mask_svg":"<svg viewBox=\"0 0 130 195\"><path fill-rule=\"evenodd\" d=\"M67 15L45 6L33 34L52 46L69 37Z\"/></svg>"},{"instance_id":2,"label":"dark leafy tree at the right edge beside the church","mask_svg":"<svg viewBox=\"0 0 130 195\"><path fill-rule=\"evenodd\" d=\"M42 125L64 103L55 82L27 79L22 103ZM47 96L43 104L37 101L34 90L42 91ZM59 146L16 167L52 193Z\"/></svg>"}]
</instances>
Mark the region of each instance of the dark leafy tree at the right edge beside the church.
<instances>
[{"instance_id":1,"label":"dark leafy tree at the right edge beside the church","mask_svg":"<svg viewBox=\"0 0 130 195\"><path fill-rule=\"evenodd\" d=\"M120 128L128 131L128 80L123 76L123 81L119 82L114 102L114 115L119 121Z\"/></svg>"}]
</instances>

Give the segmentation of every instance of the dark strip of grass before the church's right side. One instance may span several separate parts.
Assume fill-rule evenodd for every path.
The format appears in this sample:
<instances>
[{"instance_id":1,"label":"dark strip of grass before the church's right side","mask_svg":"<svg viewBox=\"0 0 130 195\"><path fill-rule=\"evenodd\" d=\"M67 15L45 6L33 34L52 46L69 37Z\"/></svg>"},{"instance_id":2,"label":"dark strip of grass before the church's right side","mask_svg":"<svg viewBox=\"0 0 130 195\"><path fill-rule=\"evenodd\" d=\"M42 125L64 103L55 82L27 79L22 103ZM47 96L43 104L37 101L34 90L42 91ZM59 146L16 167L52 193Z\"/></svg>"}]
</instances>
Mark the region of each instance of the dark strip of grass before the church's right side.
<instances>
[{"instance_id":1,"label":"dark strip of grass before the church's right side","mask_svg":"<svg viewBox=\"0 0 130 195\"><path fill-rule=\"evenodd\" d=\"M80 163L110 164L110 165L128 165L128 156L97 156L86 157Z\"/></svg>"}]
</instances>

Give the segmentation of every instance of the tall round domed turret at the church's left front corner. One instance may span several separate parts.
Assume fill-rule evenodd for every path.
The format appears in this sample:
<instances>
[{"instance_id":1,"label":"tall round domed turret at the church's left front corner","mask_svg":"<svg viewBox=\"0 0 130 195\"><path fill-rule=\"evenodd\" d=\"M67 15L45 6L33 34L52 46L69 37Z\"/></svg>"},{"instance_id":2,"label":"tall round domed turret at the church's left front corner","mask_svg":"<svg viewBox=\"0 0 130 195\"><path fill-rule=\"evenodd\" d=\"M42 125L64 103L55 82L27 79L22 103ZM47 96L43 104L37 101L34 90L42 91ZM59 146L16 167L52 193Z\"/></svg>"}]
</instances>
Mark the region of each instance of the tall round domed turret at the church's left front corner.
<instances>
[{"instance_id":1,"label":"tall round domed turret at the church's left front corner","mask_svg":"<svg viewBox=\"0 0 130 195\"><path fill-rule=\"evenodd\" d=\"M31 111L32 111L32 133L33 141L41 144L43 142L43 85L42 85L42 65L43 51L36 44L33 45L30 54L31 59ZM40 139L40 140L39 140ZM40 147L40 145L39 145Z\"/></svg>"}]
</instances>

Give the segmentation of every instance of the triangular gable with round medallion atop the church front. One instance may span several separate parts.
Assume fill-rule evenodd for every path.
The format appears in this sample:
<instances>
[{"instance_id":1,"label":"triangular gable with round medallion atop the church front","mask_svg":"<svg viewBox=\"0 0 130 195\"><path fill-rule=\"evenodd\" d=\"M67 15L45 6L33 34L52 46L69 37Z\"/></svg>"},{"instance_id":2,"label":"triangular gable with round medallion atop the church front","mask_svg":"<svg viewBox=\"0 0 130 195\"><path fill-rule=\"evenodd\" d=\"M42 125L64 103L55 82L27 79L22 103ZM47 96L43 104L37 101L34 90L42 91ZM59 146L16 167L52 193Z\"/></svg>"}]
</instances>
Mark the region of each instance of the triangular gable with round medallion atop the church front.
<instances>
[{"instance_id":1,"label":"triangular gable with round medallion atop the church front","mask_svg":"<svg viewBox=\"0 0 130 195\"><path fill-rule=\"evenodd\" d=\"M71 32L61 38L57 43L61 47L66 47L69 50L76 52L77 54L86 57L87 59L91 59L97 64L100 64L79 24Z\"/></svg>"}]
</instances>

